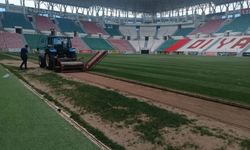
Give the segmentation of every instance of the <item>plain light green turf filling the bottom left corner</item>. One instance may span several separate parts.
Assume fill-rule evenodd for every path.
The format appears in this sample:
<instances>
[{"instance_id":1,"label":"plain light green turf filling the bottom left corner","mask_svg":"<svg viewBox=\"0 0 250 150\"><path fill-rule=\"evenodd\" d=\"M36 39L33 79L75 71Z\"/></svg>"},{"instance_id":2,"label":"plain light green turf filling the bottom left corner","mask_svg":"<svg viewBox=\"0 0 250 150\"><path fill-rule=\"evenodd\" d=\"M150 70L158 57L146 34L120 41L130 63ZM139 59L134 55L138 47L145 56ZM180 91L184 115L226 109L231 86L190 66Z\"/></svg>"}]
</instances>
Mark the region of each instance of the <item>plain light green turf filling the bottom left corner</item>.
<instances>
[{"instance_id":1,"label":"plain light green turf filling the bottom left corner","mask_svg":"<svg viewBox=\"0 0 250 150\"><path fill-rule=\"evenodd\" d=\"M0 149L100 149L0 65Z\"/></svg>"}]
</instances>

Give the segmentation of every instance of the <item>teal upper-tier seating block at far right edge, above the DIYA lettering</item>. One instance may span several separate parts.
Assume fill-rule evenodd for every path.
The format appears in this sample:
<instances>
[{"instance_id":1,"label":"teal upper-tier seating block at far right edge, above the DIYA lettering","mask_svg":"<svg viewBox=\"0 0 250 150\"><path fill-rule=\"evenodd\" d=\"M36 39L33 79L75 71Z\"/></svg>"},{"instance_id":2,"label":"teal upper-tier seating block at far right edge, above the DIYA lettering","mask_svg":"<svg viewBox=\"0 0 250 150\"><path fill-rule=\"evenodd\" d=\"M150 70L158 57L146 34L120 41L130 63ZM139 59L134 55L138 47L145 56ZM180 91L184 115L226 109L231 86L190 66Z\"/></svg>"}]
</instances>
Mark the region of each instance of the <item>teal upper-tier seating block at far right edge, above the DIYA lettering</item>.
<instances>
[{"instance_id":1,"label":"teal upper-tier seating block at far right edge, above the DIYA lettering","mask_svg":"<svg viewBox=\"0 0 250 150\"><path fill-rule=\"evenodd\" d=\"M235 18L230 24L223 26L216 33L224 33L227 30L233 32L244 32L250 25L250 14L243 14L241 17Z\"/></svg>"}]
</instances>

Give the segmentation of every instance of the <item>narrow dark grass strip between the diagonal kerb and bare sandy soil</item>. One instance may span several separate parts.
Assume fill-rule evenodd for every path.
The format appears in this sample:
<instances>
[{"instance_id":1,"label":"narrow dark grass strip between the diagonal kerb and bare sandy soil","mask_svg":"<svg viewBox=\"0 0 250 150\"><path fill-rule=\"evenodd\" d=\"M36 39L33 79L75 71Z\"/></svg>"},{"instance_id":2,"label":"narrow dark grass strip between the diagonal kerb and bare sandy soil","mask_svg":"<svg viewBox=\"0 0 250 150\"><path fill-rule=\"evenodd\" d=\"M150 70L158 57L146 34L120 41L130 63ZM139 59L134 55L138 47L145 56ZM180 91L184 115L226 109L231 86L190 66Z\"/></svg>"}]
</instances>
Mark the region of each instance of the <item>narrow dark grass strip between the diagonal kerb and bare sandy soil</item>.
<instances>
[{"instance_id":1,"label":"narrow dark grass strip between the diagonal kerb and bare sandy soil","mask_svg":"<svg viewBox=\"0 0 250 150\"><path fill-rule=\"evenodd\" d=\"M60 103L58 103L55 99L53 99L51 96L49 96L49 94L35 88L33 85L31 85L27 80L25 80L20 74L18 74L14 67L10 67L7 65L4 65L2 63L0 63L4 68L8 69L8 71L12 74L14 74L18 79L22 80L23 82L25 82L26 84L28 84L29 86L31 86L34 90L36 90L38 93L40 93L41 95L44 95L44 98L46 98L47 100L53 102L56 106L66 110L67 112L69 112L71 114L70 118L72 118L74 121L76 121L77 123L79 123L82 127L84 127L88 132L90 132L91 134L93 134L98 140L102 141L105 145L109 146L112 149L115 150L125 150L125 148L119 144L117 144L116 142L113 142L112 140L110 140L108 137L106 137L101 131L99 131L98 129L93 128L92 126L90 126L86 121L82 120L80 115L76 114L75 112L71 111L70 109L68 109L67 107L61 105Z\"/></svg>"}]
</instances>

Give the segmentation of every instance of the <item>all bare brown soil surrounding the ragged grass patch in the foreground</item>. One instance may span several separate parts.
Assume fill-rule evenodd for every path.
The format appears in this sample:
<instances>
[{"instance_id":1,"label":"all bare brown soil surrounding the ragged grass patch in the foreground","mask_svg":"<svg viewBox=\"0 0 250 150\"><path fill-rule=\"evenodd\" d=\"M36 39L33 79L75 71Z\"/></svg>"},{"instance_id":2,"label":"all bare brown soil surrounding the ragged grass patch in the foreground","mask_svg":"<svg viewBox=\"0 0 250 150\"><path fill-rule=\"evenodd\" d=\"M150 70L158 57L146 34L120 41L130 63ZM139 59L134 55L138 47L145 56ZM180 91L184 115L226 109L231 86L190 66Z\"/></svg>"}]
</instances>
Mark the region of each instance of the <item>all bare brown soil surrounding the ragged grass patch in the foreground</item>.
<instances>
[{"instance_id":1,"label":"all bare brown soil surrounding the ragged grass patch in the foreground","mask_svg":"<svg viewBox=\"0 0 250 150\"><path fill-rule=\"evenodd\" d=\"M19 66L20 61L1 61L6 65ZM51 87L39 80L27 76L28 73L42 75L47 72L37 64L28 63L28 69L21 72L23 77L34 87L49 93L58 102L77 112L82 119L92 127L102 131L114 142L126 149L164 149L164 146L152 144L141 140L138 133L133 131L133 126L124 126L123 122L111 123L102 120L95 114L86 113L79 107L71 104L63 95L56 95ZM223 104L209 102L197 98L179 95L163 90L144 87L132 83L101 77L98 75L81 73L59 73L63 77L106 90L113 90L127 97L137 98L160 108L186 115L188 119L196 120L194 123L180 128L164 128L161 133L164 140L173 147L180 149L241 149L240 140L250 138L250 111ZM62 88L72 89L71 85ZM118 109L123 109L118 108ZM141 116L147 122L148 118Z\"/></svg>"}]
</instances>

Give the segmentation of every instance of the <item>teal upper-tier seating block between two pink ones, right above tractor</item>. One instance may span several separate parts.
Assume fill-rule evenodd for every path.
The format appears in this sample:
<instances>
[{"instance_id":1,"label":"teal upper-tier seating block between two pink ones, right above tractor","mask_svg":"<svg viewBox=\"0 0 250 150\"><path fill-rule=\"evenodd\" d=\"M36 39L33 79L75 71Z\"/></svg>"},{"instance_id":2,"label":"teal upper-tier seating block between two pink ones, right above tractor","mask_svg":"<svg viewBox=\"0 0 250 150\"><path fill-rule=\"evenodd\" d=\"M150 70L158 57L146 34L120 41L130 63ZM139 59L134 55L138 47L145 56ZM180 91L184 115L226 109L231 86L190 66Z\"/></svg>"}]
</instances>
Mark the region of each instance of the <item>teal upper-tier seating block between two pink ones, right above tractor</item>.
<instances>
[{"instance_id":1,"label":"teal upper-tier seating block between two pink ones, right above tractor","mask_svg":"<svg viewBox=\"0 0 250 150\"><path fill-rule=\"evenodd\" d=\"M62 32L78 31L79 33L85 33L81 27L77 26L73 20L65 18L57 18L58 26Z\"/></svg>"}]
</instances>

